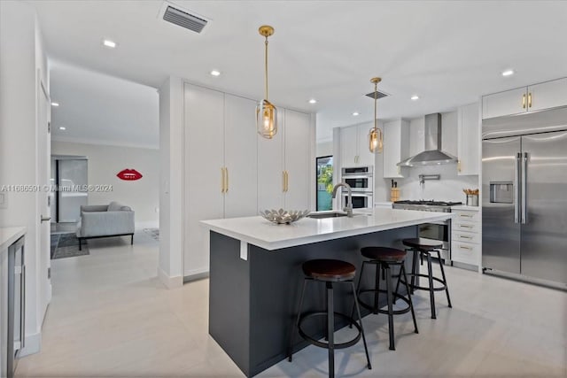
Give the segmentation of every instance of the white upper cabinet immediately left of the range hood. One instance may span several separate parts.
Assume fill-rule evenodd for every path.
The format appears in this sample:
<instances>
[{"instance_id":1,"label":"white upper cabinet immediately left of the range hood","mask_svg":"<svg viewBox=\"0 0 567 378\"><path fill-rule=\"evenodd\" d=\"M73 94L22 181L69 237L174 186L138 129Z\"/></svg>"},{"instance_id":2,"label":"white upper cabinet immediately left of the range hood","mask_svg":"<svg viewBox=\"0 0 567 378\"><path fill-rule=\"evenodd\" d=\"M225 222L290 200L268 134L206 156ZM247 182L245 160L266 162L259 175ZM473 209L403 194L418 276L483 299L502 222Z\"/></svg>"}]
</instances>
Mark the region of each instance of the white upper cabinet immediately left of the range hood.
<instances>
[{"instance_id":1,"label":"white upper cabinet immediately left of the range hood","mask_svg":"<svg viewBox=\"0 0 567 378\"><path fill-rule=\"evenodd\" d=\"M408 158L409 122L394 120L384 123L384 178L403 177L398 163Z\"/></svg>"}]
</instances>

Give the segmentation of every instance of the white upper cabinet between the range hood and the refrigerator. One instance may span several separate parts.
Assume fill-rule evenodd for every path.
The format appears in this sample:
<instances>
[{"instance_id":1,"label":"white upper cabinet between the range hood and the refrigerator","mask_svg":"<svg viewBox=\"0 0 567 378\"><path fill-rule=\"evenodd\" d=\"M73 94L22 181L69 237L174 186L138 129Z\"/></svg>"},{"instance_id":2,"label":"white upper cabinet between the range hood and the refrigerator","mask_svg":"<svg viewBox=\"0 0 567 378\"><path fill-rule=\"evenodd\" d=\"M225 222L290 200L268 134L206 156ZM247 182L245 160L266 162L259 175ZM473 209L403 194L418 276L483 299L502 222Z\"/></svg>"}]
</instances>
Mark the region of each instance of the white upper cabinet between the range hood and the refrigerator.
<instances>
[{"instance_id":1,"label":"white upper cabinet between the range hood and the refrigerator","mask_svg":"<svg viewBox=\"0 0 567 378\"><path fill-rule=\"evenodd\" d=\"M457 110L457 174L478 174L480 166L480 120L478 104Z\"/></svg>"}]
</instances>

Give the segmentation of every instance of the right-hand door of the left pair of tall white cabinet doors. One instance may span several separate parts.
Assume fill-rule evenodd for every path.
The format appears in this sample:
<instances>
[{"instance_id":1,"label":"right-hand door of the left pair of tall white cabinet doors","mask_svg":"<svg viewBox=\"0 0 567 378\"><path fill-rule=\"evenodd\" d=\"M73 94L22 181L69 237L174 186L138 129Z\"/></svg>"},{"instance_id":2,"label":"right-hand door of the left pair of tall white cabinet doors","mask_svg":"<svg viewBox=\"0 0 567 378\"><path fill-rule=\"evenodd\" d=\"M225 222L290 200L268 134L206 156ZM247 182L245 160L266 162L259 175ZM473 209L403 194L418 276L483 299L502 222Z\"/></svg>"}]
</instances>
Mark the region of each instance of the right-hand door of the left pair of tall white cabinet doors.
<instances>
[{"instance_id":1,"label":"right-hand door of the left pair of tall white cabinet doors","mask_svg":"<svg viewBox=\"0 0 567 378\"><path fill-rule=\"evenodd\" d=\"M258 213L256 103L224 96L224 217L250 217Z\"/></svg>"}]
</instances>

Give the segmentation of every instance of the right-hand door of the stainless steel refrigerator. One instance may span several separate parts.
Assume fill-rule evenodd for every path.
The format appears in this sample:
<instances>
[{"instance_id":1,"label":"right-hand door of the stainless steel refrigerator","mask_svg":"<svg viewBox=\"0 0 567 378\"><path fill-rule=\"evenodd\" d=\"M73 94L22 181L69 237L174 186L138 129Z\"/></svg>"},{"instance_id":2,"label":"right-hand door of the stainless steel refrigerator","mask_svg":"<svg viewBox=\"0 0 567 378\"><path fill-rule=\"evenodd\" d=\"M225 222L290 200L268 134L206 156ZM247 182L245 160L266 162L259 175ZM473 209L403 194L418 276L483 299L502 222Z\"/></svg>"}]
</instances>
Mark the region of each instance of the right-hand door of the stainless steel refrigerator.
<instances>
[{"instance_id":1,"label":"right-hand door of the stainless steel refrigerator","mask_svg":"<svg viewBox=\"0 0 567 378\"><path fill-rule=\"evenodd\" d=\"M567 283L567 132L522 137L522 274Z\"/></svg>"}]
</instances>

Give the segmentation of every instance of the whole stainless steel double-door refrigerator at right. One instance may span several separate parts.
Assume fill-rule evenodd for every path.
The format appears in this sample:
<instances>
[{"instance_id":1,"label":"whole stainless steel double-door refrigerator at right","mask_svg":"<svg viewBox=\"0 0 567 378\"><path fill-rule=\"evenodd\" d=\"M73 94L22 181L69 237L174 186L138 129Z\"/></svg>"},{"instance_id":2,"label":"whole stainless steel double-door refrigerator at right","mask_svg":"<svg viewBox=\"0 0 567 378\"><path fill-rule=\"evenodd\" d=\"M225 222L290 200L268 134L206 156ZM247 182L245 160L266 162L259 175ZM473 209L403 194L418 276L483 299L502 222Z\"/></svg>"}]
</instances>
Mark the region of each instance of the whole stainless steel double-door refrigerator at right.
<instances>
[{"instance_id":1,"label":"whole stainless steel double-door refrigerator at right","mask_svg":"<svg viewBox=\"0 0 567 378\"><path fill-rule=\"evenodd\" d=\"M567 283L567 110L483 121L483 267Z\"/></svg>"}]
</instances>

